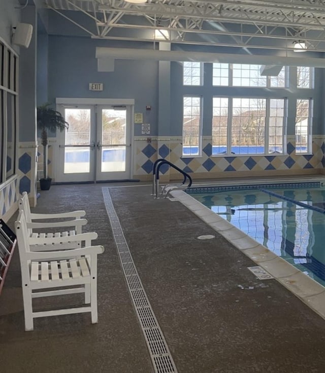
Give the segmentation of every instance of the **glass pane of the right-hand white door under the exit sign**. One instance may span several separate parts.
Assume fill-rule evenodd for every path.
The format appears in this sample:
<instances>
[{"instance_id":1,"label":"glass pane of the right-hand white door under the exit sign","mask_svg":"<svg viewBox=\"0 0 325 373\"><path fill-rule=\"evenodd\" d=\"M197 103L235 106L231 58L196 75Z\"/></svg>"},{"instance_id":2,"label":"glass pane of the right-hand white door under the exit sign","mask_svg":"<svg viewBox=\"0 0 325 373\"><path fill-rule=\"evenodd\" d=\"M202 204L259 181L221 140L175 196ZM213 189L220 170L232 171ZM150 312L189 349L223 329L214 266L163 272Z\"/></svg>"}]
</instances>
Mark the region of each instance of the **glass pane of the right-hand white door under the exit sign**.
<instances>
[{"instance_id":1,"label":"glass pane of the right-hand white door under the exit sign","mask_svg":"<svg viewBox=\"0 0 325 373\"><path fill-rule=\"evenodd\" d=\"M101 171L125 171L126 110L102 110Z\"/></svg>"}]
</instances>

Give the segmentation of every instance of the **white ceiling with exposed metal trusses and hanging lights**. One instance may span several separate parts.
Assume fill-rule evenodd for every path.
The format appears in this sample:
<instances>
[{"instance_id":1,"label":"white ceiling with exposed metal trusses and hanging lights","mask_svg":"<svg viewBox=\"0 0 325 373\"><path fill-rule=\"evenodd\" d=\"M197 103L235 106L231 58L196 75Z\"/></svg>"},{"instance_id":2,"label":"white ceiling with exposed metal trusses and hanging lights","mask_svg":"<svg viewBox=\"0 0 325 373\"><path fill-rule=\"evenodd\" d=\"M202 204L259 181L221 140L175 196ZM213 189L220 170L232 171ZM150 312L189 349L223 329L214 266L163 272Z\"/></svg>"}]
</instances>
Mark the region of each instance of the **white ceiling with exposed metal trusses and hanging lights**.
<instances>
[{"instance_id":1,"label":"white ceiling with exposed metal trusses and hanging lights","mask_svg":"<svg viewBox=\"0 0 325 373\"><path fill-rule=\"evenodd\" d=\"M325 51L325 0L41 0L92 38L153 41L154 30L171 43ZM88 17L80 23L78 13ZM158 40L158 39L156 39ZM161 41L161 40L158 40Z\"/></svg>"}]
</instances>

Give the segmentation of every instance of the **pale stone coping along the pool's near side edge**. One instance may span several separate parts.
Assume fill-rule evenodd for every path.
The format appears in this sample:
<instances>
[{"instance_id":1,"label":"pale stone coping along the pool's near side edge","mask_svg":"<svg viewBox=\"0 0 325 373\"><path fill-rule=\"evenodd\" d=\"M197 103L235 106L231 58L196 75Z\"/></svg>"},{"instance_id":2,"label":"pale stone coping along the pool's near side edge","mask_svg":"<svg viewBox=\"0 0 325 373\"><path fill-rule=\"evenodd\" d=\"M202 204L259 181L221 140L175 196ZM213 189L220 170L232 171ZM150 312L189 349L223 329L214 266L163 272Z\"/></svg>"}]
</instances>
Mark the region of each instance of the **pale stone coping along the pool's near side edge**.
<instances>
[{"instance_id":1,"label":"pale stone coping along the pool's near side edge","mask_svg":"<svg viewBox=\"0 0 325 373\"><path fill-rule=\"evenodd\" d=\"M182 190L169 192L202 221L218 232L238 250L262 267L276 281L298 297L309 308L325 319L325 287L313 278L274 254L230 222L213 212Z\"/></svg>"}]
</instances>

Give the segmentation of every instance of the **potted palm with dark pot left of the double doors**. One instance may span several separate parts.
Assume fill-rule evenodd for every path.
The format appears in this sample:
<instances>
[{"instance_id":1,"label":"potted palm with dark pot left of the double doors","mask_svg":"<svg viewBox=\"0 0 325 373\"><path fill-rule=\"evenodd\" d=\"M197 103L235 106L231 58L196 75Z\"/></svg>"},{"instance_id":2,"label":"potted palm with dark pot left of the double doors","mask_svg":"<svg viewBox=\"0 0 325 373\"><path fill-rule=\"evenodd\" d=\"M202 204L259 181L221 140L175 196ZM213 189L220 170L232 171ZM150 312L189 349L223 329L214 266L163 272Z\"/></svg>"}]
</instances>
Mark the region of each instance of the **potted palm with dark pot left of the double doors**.
<instances>
[{"instance_id":1,"label":"potted palm with dark pot left of the double doors","mask_svg":"<svg viewBox=\"0 0 325 373\"><path fill-rule=\"evenodd\" d=\"M48 132L55 132L57 129L63 131L69 128L60 112L52 109L50 103L38 106L37 108L37 128L41 132L43 145L43 178L40 179L40 188L42 191L48 191L52 179L48 176Z\"/></svg>"}]
</instances>

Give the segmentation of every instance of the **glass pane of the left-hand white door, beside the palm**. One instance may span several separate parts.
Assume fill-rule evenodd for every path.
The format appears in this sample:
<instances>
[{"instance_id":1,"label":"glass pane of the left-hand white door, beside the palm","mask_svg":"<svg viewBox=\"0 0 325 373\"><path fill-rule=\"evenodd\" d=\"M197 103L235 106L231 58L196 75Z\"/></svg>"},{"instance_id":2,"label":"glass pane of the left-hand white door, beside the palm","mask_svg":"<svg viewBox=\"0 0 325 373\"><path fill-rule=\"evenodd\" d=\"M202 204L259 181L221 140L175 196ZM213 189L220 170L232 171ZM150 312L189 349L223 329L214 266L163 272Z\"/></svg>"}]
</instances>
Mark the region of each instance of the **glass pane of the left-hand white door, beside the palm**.
<instances>
[{"instance_id":1,"label":"glass pane of the left-hand white door, beside the palm","mask_svg":"<svg viewBox=\"0 0 325 373\"><path fill-rule=\"evenodd\" d=\"M90 109L65 109L65 118L69 129L64 147L64 173L89 172Z\"/></svg>"}]
</instances>

